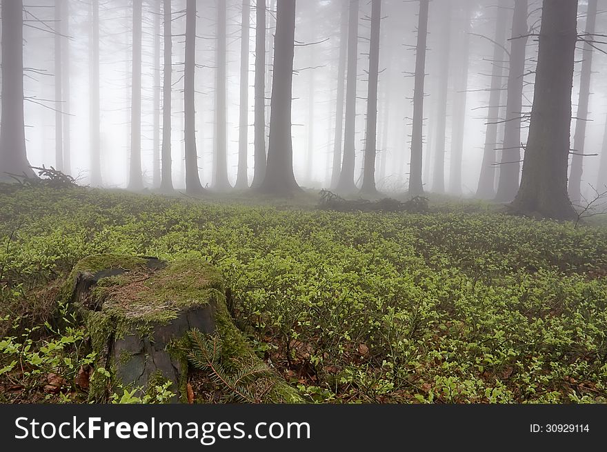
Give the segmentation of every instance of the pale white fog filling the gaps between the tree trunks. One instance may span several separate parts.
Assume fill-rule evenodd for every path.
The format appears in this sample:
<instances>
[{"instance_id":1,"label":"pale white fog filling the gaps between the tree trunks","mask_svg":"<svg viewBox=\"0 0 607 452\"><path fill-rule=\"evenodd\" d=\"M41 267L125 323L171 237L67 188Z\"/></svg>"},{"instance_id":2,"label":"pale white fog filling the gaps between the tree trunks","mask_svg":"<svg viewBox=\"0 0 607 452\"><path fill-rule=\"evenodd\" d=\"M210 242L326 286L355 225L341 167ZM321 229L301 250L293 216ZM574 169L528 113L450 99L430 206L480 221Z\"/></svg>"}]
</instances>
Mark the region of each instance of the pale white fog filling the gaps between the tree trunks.
<instances>
[{"instance_id":1,"label":"pale white fog filling the gaps between the tree trunks","mask_svg":"<svg viewBox=\"0 0 607 452\"><path fill-rule=\"evenodd\" d=\"M135 0L137 1L137 0ZM217 149L217 114L215 106L221 95L216 77L218 36L218 6L223 0L199 0L195 39L195 138L199 177L203 187L213 188L213 167ZM250 1L250 0L245 0ZM280 2L281 0L277 0ZM450 7L446 3L450 1ZM573 0L572 0L573 1ZM3 1L3 5L7 0ZM59 21L54 8L61 3L68 8ZM80 177L83 184L91 180L92 133L94 115L91 108L91 86L94 72L94 35L92 0L37 0L23 8L23 76L26 151L32 166L58 166L56 159L55 110L61 111L62 152L69 153L69 166L61 166L64 173ZM172 182L176 189L185 186L184 160L184 77L186 1L171 1L172 8ZM248 36L242 37L241 0L226 0L226 158L228 179L234 186L239 163L239 107L242 83L248 86L246 110L248 184L254 175L254 100L255 100L255 3L250 2ZM299 186L331 188L334 165L335 127L337 121L339 88L340 43L347 27L349 0L299 0L296 6L295 59L292 82L292 158L295 179ZM526 2L525 2L526 3ZM163 121L163 1L142 2L141 30L141 172L143 184L157 188L154 180L155 161L160 168L160 146ZM355 116L355 184L361 185L366 143L366 112L368 102L368 69L370 53L371 2L360 1L358 11L358 47ZM499 8L506 8L506 39L499 44L505 48L501 61L492 61L495 53L495 35ZM432 191L437 144L442 139L437 124L444 106L439 105L441 67L448 60L447 104L444 153L444 187L453 195L473 196L477 193L479 174L483 164L488 123L488 106L494 65L499 65L499 119L497 150L490 162L497 169L494 188L499 177L499 150L503 147L506 94L508 84L508 55L513 44L513 8L515 0L432 0L428 12L427 52L425 63L423 106L422 182L424 191ZM606 35L607 5L598 2L596 14L593 66L590 77L588 121L586 124L583 175L581 190L587 193L590 185L606 184L597 180L599 159L603 146L607 116L607 87L605 70L607 57L599 41ZM272 57L276 26L276 0L266 1L266 152L270 132L270 97L272 95ZM377 157L375 181L384 193L408 190L411 156L411 135L416 72L416 43L419 1L381 1L379 39L379 83L377 92ZM586 29L588 1L579 1L577 31ZM132 70L133 70L133 5L132 1L99 1L99 159L101 185L128 186ZM448 14L448 17L446 17ZM525 46L525 67L521 99L521 159L528 134L528 115L533 104L535 66L537 63L537 34L541 22L541 1L530 0L527 6L528 37ZM67 21L67 22L66 22ZM56 98L55 32L61 33L61 99ZM446 30L449 32L445 39ZM3 39L8 39L4 37ZM241 39L248 39L248 79L241 80ZM519 38L521 39L521 38ZM444 42L449 43L448 55ZM580 90L582 61L588 57L583 51L584 41L578 41L575 55L573 86L573 113L571 121L571 148L576 127L576 112ZM343 46L346 47L346 46ZM347 74L346 74L347 76ZM343 77L343 76L342 76ZM342 83L344 98L346 83ZM495 86L495 85L494 85ZM156 95L155 95L156 93ZM156 99L156 100L155 100ZM462 104L464 103L464 104ZM346 107L339 108L345 115ZM462 121L463 118L463 121ZM579 119L583 120L583 119ZM461 125L463 124L463 135ZM460 128L458 131L457 128ZM221 128L219 128L221 130ZM344 134L341 134L344 140ZM453 150L457 140L461 146L461 188L450 184ZM343 141L339 146L343 151ZM574 150L572 152L577 152ZM607 157L607 156L606 156ZM341 157L339 157L341 161ZM459 162L456 164L459 165ZM155 187L156 184L156 187Z\"/></svg>"}]
</instances>

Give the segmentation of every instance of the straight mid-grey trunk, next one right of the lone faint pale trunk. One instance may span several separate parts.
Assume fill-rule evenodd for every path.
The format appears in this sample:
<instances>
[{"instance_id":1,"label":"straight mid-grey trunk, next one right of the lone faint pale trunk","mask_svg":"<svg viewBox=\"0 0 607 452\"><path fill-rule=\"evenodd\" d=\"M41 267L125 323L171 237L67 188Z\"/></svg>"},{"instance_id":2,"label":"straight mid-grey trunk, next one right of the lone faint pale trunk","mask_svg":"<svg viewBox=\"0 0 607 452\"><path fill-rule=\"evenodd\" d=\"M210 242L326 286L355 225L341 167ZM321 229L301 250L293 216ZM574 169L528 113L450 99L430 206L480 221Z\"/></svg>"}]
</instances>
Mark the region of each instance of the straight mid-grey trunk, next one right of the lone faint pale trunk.
<instances>
[{"instance_id":1,"label":"straight mid-grey trunk, next one right of the lone faint pale trunk","mask_svg":"<svg viewBox=\"0 0 607 452\"><path fill-rule=\"evenodd\" d=\"M141 190L141 0L133 0L130 97L130 171L128 188Z\"/></svg>"}]
</instances>

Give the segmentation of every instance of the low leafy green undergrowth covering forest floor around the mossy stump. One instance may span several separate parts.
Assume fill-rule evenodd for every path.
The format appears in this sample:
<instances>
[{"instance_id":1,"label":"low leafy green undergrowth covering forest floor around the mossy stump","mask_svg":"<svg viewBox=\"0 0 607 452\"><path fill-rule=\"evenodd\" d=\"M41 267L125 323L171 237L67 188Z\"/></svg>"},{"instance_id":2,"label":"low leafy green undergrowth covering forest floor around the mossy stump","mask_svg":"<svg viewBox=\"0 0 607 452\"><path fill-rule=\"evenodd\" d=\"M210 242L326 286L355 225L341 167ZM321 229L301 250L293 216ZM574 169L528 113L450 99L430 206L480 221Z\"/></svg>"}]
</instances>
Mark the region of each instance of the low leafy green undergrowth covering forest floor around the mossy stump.
<instances>
[{"instance_id":1,"label":"low leafy green undergrowth covering forest floor around the mossy stump","mask_svg":"<svg viewBox=\"0 0 607 452\"><path fill-rule=\"evenodd\" d=\"M86 399L88 333L48 321L97 253L217 266L250 346L310 402L606 402L607 226L430 201L1 186L0 402Z\"/></svg>"}]
</instances>

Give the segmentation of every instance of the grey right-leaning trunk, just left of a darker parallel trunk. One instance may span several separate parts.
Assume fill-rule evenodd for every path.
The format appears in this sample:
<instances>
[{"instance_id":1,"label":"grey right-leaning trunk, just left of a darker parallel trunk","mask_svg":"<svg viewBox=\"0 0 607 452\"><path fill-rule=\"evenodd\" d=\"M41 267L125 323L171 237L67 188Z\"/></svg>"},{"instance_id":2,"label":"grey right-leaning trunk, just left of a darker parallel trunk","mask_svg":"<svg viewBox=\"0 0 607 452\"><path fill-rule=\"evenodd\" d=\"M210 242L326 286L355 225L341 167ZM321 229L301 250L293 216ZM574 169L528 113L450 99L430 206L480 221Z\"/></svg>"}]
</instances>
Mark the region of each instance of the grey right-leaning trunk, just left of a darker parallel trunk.
<instances>
[{"instance_id":1,"label":"grey right-leaning trunk, just left of a darker parallel trunk","mask_svg":"<svg viewBox=\"0 0 607 452\"><path fill-rule=\"evenodd\" d=\"M477 197L492 199L495 197L495 148L497 148L497 122L499 121L499 99L501 95L501 80L504 74L504 41L506 40L506 19L508 17L506 0L497 4L497 19L495 21L495 41L493 46L493 68L491 71L491 87L489 92L489 110L487 113L487 129L485 147Z\"/></svg>"}]
</instances>

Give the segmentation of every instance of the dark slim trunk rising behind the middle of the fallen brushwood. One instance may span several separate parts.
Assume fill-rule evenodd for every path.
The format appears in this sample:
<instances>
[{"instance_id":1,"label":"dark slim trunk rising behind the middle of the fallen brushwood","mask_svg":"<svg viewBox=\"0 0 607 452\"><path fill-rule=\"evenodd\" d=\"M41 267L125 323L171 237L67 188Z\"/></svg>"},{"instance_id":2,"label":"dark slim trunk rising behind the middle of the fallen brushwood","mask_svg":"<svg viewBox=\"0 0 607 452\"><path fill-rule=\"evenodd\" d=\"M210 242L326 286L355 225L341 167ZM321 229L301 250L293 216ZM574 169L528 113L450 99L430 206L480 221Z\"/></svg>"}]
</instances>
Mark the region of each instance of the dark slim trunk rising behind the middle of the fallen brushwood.
<instances>
[{"instance_id":1,"label":"dark slim trunk rising behind the middle of the fallen brushwood","mask_svg":"<svg viewBox=\"0 0 607 452\"><path fill-rule=\"evenodd\" d=\"M371 42L369 48L369 83L367 96L367 130L365 140L365 169L361 193L374 195L375 156L377 155L377 79L379 77L379 25L381 0L371 1Z\"/></svg>"}]
</instances>

